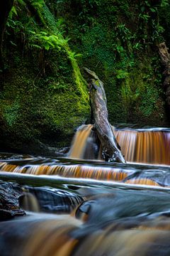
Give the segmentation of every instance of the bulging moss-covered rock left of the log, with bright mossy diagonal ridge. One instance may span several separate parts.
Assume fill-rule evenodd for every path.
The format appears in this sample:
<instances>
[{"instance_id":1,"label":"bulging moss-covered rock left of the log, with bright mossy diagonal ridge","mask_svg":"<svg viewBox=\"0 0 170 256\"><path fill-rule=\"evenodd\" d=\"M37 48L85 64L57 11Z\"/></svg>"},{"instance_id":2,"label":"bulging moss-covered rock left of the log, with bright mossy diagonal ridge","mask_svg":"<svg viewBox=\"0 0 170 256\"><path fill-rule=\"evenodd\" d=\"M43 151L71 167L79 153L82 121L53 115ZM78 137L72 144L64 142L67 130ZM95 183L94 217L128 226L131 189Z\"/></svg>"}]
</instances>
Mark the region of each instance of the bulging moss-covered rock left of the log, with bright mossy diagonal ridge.
<instances>
[{"instance_id":1,"label":"bulging moss-covered rock left of the log, with bright mossy diagonal ridge","mask_svg":"<svg viewBox=\"0 0 170 256\"><path fill-rule=\"evenodd\" d=\"M37 7L39 11L42 8ZM4 90L0 100L6 127L1 133L4 141L13 136L14 141L25 143L40 139L55 146L57 142L66 140L73 134L74 128L86 122L90 114L86 82L77 60L69 58L72 51L67 40L64 40L56 28L50 11L47 8L44 11L45 19L42 24L46 31L50 31L48 33L53 33L58 38L61 50L54 47L44 53L42 47L38 46L30 56L23 57L18 50L11 54L13 65L4 77ZM39 12L38 16L40 17ZM37 40L38 35L41 36L39 27L35 25L33 28L36 33L32 31L31 34ZM27 36L30 36L29 33ZM28 40L31 46L33 38Z\"/></svg>"}]
</instances>

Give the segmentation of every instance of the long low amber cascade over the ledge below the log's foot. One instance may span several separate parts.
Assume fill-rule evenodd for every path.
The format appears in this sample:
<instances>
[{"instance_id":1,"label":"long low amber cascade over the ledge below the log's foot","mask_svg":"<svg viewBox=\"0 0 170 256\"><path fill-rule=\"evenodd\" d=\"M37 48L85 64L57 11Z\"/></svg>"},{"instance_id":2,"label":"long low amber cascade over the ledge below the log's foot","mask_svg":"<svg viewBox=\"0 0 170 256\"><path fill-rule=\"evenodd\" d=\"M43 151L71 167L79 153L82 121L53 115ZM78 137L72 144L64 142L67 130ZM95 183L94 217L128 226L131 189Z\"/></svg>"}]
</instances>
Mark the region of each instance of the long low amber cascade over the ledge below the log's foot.
<instances>
[{"instance_id":1,"label":"long low amber cascade over the ledge below the log's foot","mask_svg":"<svg viewBox=\"0 0 170 256\"><path fill-rule=\"evenodd\" d=\"M18 159L1 160L1 174L31 174L53 176L54 178L74 178L81 181L109 181L120 184L140 184L147 186L170 186L169 166L137 164L106 164L102 161L74 159Z\"/></svg>"}]
</instances>

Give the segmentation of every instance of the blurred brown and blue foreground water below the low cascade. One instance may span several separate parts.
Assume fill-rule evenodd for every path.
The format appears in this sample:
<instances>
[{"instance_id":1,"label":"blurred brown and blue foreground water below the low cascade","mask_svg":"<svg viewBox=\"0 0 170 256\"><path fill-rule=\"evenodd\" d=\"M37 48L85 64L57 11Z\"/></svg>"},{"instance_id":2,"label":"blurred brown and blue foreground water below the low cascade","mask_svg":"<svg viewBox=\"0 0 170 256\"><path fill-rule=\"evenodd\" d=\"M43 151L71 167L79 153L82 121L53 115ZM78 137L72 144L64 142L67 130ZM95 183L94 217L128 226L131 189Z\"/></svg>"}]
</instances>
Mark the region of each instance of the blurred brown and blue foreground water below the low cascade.
<instances>
[{"instance_id":1,"label":"blurred brown and blue foreground water below the low cascade","mask_svg":"<svg viewBox=\"0 0 170 256\"><path fill-rule=\"evenodd\" d=\"M78 188L71 215L27 213L0 222L1 255L169 255L169 193Z\"/></svg>"}]
</instances>

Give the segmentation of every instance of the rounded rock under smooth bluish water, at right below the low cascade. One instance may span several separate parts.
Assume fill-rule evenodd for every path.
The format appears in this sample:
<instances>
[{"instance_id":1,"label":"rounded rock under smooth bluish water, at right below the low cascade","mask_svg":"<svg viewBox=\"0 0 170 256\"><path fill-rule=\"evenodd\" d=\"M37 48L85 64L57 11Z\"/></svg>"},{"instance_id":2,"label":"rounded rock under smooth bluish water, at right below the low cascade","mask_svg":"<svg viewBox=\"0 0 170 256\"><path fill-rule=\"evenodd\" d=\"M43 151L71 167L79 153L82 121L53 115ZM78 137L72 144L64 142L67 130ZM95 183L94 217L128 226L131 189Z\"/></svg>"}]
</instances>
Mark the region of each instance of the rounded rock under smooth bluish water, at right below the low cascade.
<instances>
[{"instance_id":1,"label":"rounded rock under smooth bluish water, at right below the low cascade","mask_svg":"<svg viewBox=\"0 0 170 256\"><path fill-rule=\"evenodd\" d=\"M114 191L92 196L81 203L76 218L102 227L124 218L168 216L169 193L160 191Z\"/></svg>"}]
</instances>

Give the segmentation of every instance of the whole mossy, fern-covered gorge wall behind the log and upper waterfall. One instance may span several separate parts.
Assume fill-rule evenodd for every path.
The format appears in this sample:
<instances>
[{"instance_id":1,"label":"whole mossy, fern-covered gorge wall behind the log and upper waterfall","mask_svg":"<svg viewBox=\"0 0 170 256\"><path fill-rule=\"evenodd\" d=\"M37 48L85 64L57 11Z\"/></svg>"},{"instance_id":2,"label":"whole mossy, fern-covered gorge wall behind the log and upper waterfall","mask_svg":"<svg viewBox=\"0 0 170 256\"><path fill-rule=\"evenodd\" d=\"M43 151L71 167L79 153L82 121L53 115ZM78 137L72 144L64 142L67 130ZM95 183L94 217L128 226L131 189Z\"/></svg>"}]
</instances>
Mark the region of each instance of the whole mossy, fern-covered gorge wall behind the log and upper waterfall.
<instances>
[{"instance_id":1,"label":"whole mossy, fern-covered gorge wall behind the log and upper waterfall","mask_svg":"<svg viewBox=\"0 0 170 256\"><path fill-rule=\"evenodd\" d=\"M90 118L84 66L104 82L111 123L169 125L157 50L169 40L169 11L165 0L15 0L0 74L1 144L69 142Z\"/></svg>"}]
</instances>

